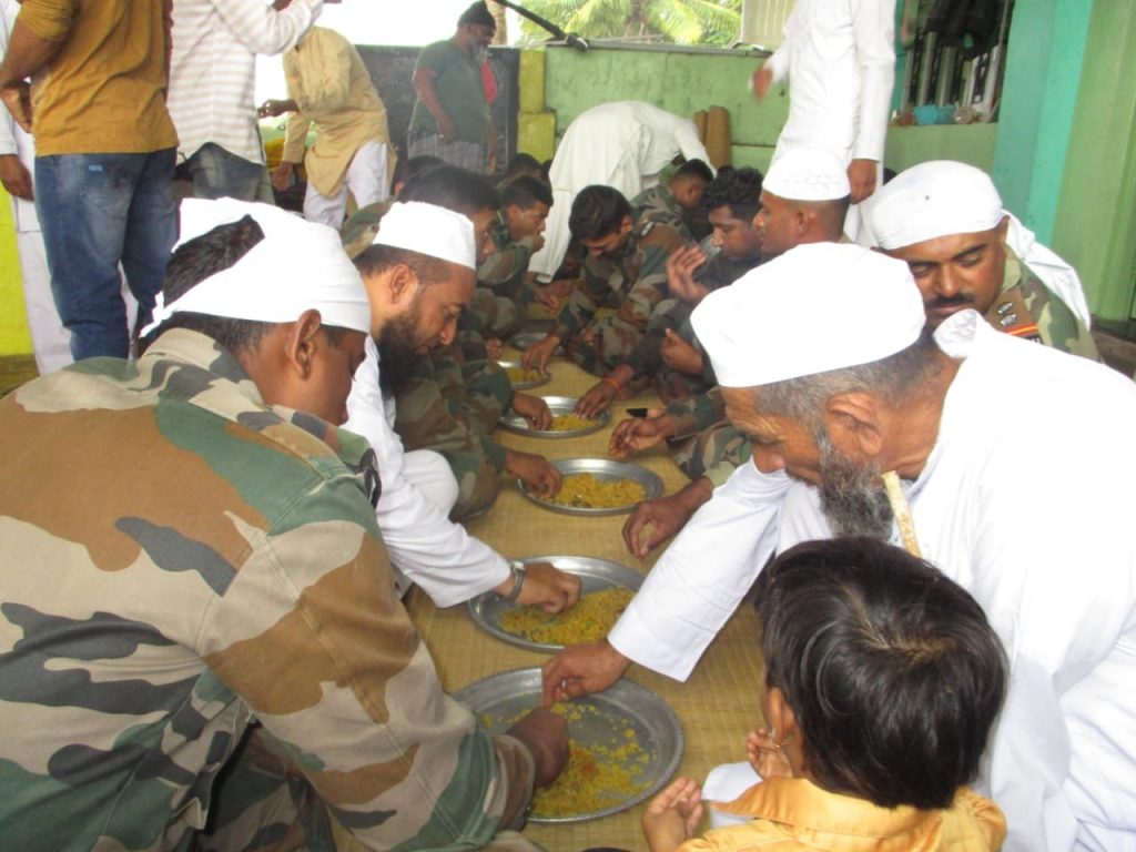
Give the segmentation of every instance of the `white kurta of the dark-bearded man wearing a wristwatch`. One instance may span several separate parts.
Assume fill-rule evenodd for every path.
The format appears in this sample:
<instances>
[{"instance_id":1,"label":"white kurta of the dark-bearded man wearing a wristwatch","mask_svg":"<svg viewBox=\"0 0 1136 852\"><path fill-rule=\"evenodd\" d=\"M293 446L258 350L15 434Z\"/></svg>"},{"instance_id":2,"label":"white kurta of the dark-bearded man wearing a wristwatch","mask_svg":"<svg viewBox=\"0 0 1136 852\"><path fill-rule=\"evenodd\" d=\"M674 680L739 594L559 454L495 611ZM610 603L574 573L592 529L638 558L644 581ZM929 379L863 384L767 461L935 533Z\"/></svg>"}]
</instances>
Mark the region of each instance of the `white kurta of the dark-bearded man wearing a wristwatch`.
<instances>
[{"instance_id":1,"label":"white kurta of the dark-bearded man wearing a wristwatch","mask_svg":"<svg viewBox=\"0 0 1136 852\"><path fill-rule=\"evenodd\" d=\"M429 451L403 451L394 432L393 401L385 401L378 386L378 349L369 339L367 357L351 383L348 414L345 428L367 438L377 457L382 494L375 517L391 561L406 579L421 586L438 607L452 607L504 583L508 561L451 521L414 482L421 456Z\"/></svg>"}]
</instances>

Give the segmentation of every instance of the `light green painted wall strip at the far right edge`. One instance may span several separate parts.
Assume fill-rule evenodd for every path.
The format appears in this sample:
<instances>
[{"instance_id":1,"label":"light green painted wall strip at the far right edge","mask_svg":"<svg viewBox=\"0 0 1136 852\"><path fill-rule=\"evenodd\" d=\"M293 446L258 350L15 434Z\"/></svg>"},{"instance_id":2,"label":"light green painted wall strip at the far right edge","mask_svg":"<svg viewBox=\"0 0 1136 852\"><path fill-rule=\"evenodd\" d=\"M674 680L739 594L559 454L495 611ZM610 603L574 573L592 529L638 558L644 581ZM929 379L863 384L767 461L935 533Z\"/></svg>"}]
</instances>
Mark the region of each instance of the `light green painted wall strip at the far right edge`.
<instances>
[{"instance_id":1,"label":"light green painted wall strip at the far right edge","mask_svg":"<svg viewBox=\"0 0 1136 852\"><path fill-rule=\"evenodd\" d=\"M1093 314L1124 320L1136 290L1136 6L1095 0L1052 247Z\"/></svg>"}]
</instances>

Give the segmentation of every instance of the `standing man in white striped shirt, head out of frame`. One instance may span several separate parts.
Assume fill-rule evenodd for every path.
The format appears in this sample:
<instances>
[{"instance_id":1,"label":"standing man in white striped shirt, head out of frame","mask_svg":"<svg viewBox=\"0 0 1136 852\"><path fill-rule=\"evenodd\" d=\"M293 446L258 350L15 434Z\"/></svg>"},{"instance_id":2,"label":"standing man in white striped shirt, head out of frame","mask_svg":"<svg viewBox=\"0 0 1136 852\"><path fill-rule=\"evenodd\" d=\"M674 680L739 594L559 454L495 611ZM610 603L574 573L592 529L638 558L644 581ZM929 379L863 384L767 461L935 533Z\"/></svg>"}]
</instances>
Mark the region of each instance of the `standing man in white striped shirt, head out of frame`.
<instances>
[{"instance_id":1,"label":"standing man in white striped shirt, head out of frame","mask_svg":"<svg viewBox=\"0 0 1136 852\"><path fill-rule=\"evenodd\" d=\"M198 198L273 203L257 127L257 55L294 48L324 0L174 0L167 106Z\"/></svg>"}]
</instances>

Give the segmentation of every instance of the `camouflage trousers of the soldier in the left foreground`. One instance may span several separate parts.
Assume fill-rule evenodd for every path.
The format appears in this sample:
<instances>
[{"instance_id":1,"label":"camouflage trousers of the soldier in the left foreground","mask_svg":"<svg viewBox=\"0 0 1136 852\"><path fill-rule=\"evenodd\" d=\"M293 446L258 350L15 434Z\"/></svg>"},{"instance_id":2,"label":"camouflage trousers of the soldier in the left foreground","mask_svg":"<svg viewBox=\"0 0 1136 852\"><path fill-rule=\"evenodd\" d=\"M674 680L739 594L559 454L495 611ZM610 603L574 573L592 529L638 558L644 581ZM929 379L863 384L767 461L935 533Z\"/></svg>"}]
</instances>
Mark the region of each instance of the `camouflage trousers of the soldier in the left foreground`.
<instances>
[{"instance_id":1,"label":"camouflage trousers of the soldier in the left foreground","mask_svg":"<svg viewBox=\"0 0 1136 852\"><path fill-rule=\"evenodd\" d=\"M490 852L544 852L503 830ZM187 852L369 852L331 819L295 763L259 725L250 727L214 787L209 825Z\"/></svg>"}]
</instances>

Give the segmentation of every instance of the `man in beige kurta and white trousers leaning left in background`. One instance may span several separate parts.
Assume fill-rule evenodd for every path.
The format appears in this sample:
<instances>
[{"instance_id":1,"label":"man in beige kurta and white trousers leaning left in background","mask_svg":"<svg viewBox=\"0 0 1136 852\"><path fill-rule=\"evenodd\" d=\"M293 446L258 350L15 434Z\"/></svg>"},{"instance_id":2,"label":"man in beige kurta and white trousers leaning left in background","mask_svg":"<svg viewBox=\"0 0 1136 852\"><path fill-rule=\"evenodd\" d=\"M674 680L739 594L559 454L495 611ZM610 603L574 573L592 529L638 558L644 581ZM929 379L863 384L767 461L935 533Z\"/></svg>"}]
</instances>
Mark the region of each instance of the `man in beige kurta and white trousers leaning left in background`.
<instances>
[{"instance_id":1,"label":"man in beige kurta and white trousers leaning left in background","mask_svg":"<svg viewBox=\"0 0 1136 852\"><path fill-rule=\"evenodd\" d=\"M273 184L287 189L295 165L302 161L308 173L303 217L337 229L346 214L349 190L357 208L385 201L391 194L394 150L387 141L386 107L359 51L333 30L314 27L285 53L284 77L289 100L270 100L260 108L262 116L292 114ZM304 153L312 122L316 143Z\"/></svg>"}]
</instances>

